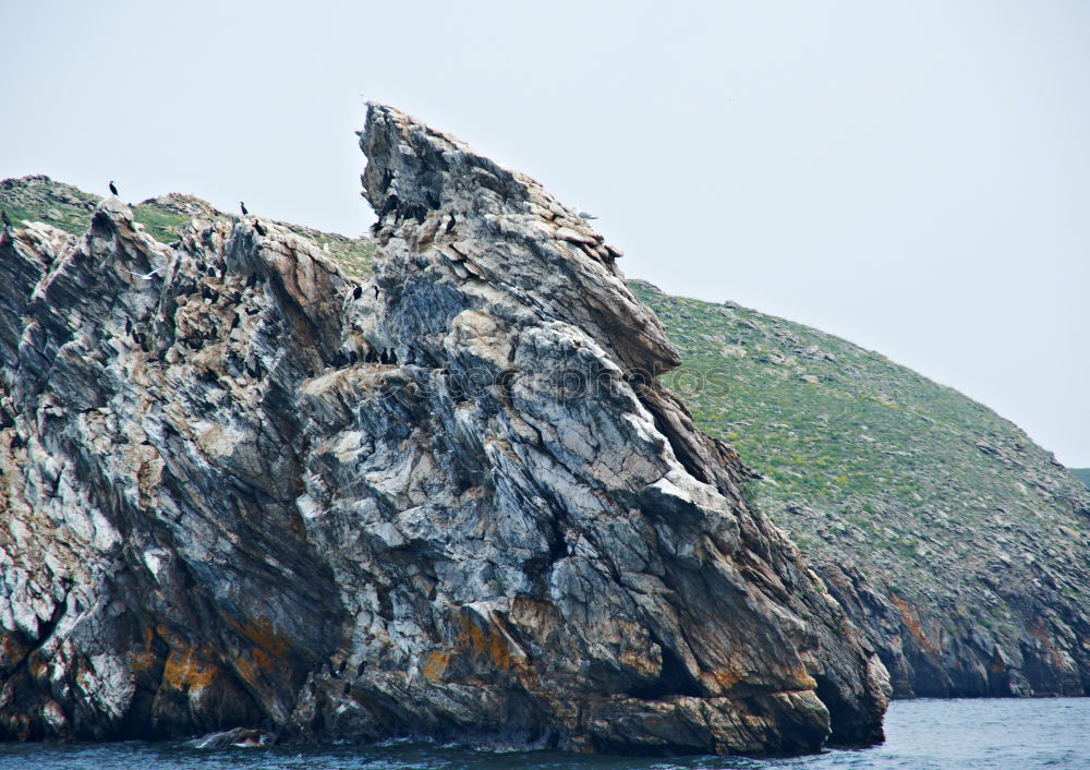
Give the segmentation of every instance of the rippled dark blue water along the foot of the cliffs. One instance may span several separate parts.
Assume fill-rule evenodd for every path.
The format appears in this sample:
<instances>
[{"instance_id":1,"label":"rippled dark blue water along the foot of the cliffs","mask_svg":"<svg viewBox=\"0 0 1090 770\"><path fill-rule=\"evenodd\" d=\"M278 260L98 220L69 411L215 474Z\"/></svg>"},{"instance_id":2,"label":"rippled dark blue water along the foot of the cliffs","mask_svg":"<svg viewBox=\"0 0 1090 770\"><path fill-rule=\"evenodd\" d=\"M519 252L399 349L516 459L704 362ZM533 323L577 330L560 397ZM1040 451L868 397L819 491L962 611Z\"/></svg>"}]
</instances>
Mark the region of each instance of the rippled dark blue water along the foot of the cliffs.
<instances>
[{"instance_id":1,"label":"rippled dark blue water along the foot of the cliffs","mask_svg":"<svg viewBox=\"0 0 1090 770\"><path fill-rule=\"evenodd\" d=\"M792 759L632 759L556 751L506 754L457 746L278 746L201 750L177 744L0 746L0 768L23 770L680 770L700 768L1090 769L1090 698L897 701L887 741Z\"/></svg>"}]
</instances>

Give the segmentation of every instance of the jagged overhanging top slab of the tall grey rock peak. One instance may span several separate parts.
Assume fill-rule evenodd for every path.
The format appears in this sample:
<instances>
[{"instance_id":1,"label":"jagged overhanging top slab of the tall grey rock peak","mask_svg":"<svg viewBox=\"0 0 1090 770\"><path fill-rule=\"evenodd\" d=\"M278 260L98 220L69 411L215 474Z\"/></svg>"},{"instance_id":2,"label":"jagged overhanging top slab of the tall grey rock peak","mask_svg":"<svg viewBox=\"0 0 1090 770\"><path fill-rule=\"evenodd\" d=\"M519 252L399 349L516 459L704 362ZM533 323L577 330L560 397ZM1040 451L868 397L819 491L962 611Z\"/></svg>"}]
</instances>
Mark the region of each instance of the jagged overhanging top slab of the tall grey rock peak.
<instances>
[{"instance_id":1,"label":"jagged overhanging top slab of the tall grey rock peak","mask_svg":"<svg viewBox=\"0 0 1090 770\"><path fill-rule=\"evenodd\" d=\"M621 365L655 375L680 363L658 318L625 286L620 250L536 181L382 105L371 106L360 145L388 256L407 253L389 240L414 221L413 249L434 246L455 270L585 329Z\"/></svg>"}]
</instances>

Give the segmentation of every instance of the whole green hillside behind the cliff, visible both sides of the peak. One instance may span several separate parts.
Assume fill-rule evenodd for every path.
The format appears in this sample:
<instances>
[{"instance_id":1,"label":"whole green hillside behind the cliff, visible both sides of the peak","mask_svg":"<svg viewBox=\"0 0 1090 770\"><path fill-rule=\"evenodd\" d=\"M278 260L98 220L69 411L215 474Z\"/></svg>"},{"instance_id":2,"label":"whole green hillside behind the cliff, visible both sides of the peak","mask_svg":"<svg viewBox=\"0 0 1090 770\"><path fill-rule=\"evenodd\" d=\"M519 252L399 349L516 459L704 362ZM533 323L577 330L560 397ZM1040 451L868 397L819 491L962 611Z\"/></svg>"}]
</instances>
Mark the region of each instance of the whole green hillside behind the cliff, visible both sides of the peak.
<instances>
[{"instance_id":1,"label":"whole green hillside behind the cliff, visible both sides of the peak","mask_svg":"<svg viewBox=\"0 0 1090 770\"><path fill-rule=\"evenodd\" d=\"M98 203L48 177L0 181L15 221L82 234ZM192 216L231 220L177 193L132 210L162 242ZM277 224L349 276L373 275L370 238ZM700 430L762 471L748 494L876 648L894 697L1090 693L1090 495L1076 481L1090 484L1090 471L1059 467L983 405L844 339L629 287L681 353L663 382Z\"/></svg>"}]
</instances>

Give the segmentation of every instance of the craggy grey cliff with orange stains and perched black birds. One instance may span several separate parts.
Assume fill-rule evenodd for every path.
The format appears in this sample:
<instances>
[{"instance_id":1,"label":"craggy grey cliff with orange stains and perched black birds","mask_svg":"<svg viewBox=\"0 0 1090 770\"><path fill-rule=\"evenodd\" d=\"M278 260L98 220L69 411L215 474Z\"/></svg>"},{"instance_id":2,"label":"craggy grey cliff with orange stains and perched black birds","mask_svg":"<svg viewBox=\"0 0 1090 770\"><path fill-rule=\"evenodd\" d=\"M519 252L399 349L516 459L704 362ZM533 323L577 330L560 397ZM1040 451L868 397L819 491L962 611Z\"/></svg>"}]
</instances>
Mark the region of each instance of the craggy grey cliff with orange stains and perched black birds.
<instances>
[{"instance_id":1,"label":"craggy grey cliff with orange stains and perched black birds","mask_svg":"<svg viewBox=\"0 0 1090 770\"><path fill-rule=\"evenodd\" d=\"M367 284L116 198L0 237L0 736L880 739L885 669L655 384L618 252L395 110L361 145Z\"/></svg>"}]
</instances>

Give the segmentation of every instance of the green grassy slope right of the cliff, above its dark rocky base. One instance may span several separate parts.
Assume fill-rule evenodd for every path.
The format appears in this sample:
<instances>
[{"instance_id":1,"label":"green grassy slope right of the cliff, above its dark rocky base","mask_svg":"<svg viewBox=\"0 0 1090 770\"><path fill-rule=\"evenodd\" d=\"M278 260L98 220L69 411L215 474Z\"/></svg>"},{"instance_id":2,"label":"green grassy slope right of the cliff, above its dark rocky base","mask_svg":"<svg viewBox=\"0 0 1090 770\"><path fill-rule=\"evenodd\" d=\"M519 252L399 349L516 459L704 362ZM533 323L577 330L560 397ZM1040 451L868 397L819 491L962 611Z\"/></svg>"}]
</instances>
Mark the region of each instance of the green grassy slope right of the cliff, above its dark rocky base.
<instances>
[{"instance_id":1,"label":"green grassy slope right of the cliff, above its dark rocky base","mask_svg":"<svg viewBox=\"0 0 1090 770\"><path fill-rule=\"evenodd\" d=\"M665 384L763 474L750 494L808 553L853 553L901 594L958 605L944 580L967 568L1050 551L1090 566L1085 491L986 407L818 329L630 286L681 353Z\"/></svg>"}]
</instances>

